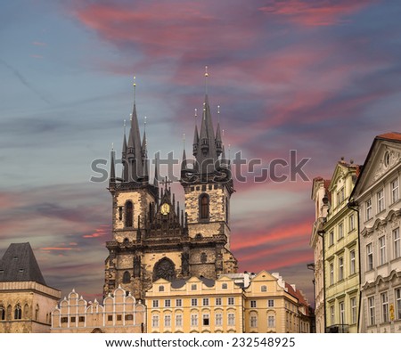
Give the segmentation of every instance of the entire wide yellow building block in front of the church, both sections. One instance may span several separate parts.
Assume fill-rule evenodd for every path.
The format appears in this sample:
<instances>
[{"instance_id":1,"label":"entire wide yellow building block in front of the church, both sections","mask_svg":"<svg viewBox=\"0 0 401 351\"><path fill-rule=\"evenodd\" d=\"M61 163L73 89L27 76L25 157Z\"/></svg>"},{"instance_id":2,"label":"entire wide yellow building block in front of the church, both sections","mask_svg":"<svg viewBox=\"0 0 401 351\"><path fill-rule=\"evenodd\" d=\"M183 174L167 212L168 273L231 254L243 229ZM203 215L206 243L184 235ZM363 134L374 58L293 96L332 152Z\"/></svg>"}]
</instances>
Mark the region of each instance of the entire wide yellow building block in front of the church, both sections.
<instances>
[{"instance_id":1,"label":"entire wide yellow building block in front of the church, both sections","mask_svg":"<svg viewBox=\"0 0 401 351\"><path fill-rule=\"evenodd\" d=\"M310 332L307 302L299 290L278 273L243 275L153 282L146 292L147 331Z\"/></svg>"}]
</instances>

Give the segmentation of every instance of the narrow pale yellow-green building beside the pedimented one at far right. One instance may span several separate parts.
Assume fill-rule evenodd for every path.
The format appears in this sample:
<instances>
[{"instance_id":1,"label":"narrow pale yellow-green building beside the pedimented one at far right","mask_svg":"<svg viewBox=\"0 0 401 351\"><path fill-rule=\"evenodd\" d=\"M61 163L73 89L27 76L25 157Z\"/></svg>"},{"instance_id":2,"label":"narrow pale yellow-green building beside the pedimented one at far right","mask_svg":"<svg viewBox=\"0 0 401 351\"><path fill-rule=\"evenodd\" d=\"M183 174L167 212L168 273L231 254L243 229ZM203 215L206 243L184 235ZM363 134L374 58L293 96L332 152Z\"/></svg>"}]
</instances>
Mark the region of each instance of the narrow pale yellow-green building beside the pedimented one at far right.
<instances>
[{"instance_id":1,"label":"narrow pale yellow-green building beside the pedimented one at far right","mask_svg":"<svg viewBox=\"0 0 401 351\"><path fill-rule=\"evenodd\" d=\"M359 252L357 213L348 208L360 167L340 160L328 188L323 224L326 332L357 332Z\"/></svg>"}]
</instances>

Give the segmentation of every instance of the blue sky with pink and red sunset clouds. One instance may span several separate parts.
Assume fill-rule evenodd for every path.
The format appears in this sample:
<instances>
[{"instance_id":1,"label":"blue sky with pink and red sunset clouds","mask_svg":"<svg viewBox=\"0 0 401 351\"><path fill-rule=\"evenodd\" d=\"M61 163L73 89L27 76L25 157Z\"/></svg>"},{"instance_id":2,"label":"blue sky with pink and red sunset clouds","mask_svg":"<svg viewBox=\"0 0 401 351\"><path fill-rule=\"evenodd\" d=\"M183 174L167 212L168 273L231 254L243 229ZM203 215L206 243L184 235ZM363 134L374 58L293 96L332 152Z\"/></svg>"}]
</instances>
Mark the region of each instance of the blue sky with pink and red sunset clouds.
<instances>
[{"instance_id":1,"label":"blue sky with pink and red sunset clouds","mask_svg":"<svg viewBox=\"0 0 401 351\"><path fill-rule=\"evenodd\" d=\"M100 298L111 197L91 165L112 143L121 151L134 76L149 155L191 154L208 66L226 150L260 160L234 179L240 271L278 272L312 302L312 179L330 179L341 157L363 164L375 135L401 132L400 17L396 1L4 2L0 255L29 241L62 296ZM255 180L291 151L306 176Z\"/></svg>"}]
</instances>

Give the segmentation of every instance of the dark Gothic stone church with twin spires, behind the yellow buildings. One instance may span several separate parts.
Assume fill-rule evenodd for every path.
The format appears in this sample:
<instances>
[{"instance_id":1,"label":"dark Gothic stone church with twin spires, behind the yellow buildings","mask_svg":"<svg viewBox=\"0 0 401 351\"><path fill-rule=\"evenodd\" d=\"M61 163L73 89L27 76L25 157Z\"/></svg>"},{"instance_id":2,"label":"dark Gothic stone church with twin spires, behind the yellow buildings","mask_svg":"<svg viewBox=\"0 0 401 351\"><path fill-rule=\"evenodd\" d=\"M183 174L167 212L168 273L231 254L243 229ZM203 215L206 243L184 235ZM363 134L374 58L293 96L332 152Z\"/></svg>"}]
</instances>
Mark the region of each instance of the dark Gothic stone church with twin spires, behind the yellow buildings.
<instances>
[{"instance_id":1,"label":"dark Gothic stone church with twin spires, behind the yellow buildings","mask_svg":"<svg viewBox=\"0 0 401 351\"><path fill-rule=\"evenodd\" d=\"M120 285L135 298L143 298L159 278L171 282L192 275L216 279L218 273L237 269L229 250L233 180L219 125L214 132L208 96L200 135L195 127L195 159L191 162L183 153L184 210L170 182L160 182L157 162L151 184L146 145L145 133L141 142L134 98L128 143L125 133L123 138L121 177L116 176L114 151L111 158L112 241L106 242L104 296Z\"/></svg>"}]
</instances>

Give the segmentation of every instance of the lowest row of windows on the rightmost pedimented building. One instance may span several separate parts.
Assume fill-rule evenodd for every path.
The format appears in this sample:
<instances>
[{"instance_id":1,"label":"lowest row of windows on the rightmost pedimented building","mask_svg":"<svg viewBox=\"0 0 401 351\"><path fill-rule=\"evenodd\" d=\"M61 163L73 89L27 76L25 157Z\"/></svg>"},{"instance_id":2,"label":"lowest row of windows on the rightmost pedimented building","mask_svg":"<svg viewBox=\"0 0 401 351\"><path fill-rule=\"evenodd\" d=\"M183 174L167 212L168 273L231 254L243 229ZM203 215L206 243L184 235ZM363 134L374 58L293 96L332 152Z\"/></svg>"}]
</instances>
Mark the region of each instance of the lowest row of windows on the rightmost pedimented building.
<instances>
[{"instance_id":1,"label":"lowest row of windows on the rightmost pedimented building","mask_svg":"<svg viewBox=\"0 0 401 351\"><path fill-rule=\"evenodd\" d=\"M390 319L401 320L401 288L394 290L394 298L396 311L391 311L393 305L389 304L389 291L381 293L380 304L381 304L381 320L376 321L376 298L374 296L367 298L368 309L369 309L369 325L375 325L377 322L389 322ZM394 314L395 313L395 314ZM394 315L392 315L394 314Z\"/></svg>"}]
</instances>

